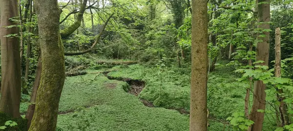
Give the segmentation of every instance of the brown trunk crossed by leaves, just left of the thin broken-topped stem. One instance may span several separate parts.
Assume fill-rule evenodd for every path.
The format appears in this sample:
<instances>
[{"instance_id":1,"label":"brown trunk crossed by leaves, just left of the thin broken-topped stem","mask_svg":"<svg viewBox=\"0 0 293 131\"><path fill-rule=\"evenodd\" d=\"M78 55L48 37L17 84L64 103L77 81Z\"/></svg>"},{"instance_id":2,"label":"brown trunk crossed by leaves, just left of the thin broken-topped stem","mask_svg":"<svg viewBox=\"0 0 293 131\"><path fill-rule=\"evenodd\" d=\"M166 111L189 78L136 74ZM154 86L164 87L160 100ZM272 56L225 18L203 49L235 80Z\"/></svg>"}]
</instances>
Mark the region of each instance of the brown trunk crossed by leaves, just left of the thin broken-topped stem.
<instances>
[{"instance_id":1,"label":"brown trunk crossed by leaves, just left of the thin broken-topped stem","mask_svg":"<svg viewBox=\"0 0 293 131\"><path fill-rule=\"evenodd\" d=\"M258 6L257 21L259 23L257 28L261 29L270 29L270 0L258 0L256 2ZM270 32L263 32L266 37L257 37L258 42L256 44L256 61L264 61L265 63L256 64L259 66L268 66L269 64L269 49L270 49ZM251 108L250 119L254 121L254 124L251 126L251 131L262 131L264 113L258 112L257 110L265 110L266 108L266 84L262 81L254 82L254 95Z\"/></svg>"}]
</instances>

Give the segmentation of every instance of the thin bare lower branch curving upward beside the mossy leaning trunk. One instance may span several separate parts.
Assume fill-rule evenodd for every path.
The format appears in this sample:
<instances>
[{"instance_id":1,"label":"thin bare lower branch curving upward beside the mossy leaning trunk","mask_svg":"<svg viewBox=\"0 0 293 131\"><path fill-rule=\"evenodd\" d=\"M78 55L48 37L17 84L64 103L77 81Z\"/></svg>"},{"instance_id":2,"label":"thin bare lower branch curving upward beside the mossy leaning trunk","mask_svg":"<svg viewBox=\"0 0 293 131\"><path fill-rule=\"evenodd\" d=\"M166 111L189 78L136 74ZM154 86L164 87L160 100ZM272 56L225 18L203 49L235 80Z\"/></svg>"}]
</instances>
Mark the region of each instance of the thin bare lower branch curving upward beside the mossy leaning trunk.
<instances>
[{"instance_id":1,"label":"thin bare lower branch curving upward beside the mossy leaning trunk","mask_svg":"<svg viewBox=\"0 0 293 131\"><path fill-rule=\"evenodd\" d=\"M103 26L102 31L98 34L98 36L97 36L97 38L96 38L94 44L93 44L89 49L84 50L84 51L82 51L82 52L64 52L64 55L67 55L67 56L68 56L68 55L81 55L81 54L85 54L85 53L87 53L87 52L92 51L92 50L94 49L94 47L98 44L99 40L101 39L101 36L102 36L102 34L104 33L105 28L106 28L108 22L110 21L110 19L111 19L111 17L112 17L113 15L114 15L114 13L111 14L111 15L108 17L108 19L106 20L106 22L105 22L105 24L104 24L104 26Z\"/></svg>"}]
</instances>

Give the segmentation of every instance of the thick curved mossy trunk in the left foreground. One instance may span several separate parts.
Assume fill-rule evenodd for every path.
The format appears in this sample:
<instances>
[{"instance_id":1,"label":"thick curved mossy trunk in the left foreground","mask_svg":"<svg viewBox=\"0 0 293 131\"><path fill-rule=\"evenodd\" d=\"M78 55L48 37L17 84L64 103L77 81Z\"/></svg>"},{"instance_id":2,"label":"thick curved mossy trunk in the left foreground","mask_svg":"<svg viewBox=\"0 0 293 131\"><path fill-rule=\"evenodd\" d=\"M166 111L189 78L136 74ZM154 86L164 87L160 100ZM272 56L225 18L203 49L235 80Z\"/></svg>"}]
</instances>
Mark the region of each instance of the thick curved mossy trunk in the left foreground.
<instances>
[{"instance_id":1,"label":"thick curved mossy trunk in the left foreground","mask_svg":"<svg viewBox=\"0 0 293 131\"><path fill-rule=\"evenodd\" d=\"M29 131L55 131L65 79L58 0L35 0L42 51L42 74Z\"/></svg>"}]
</instances>

